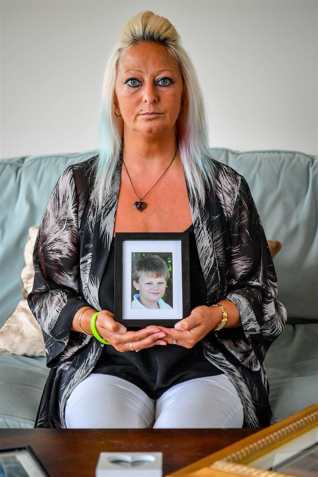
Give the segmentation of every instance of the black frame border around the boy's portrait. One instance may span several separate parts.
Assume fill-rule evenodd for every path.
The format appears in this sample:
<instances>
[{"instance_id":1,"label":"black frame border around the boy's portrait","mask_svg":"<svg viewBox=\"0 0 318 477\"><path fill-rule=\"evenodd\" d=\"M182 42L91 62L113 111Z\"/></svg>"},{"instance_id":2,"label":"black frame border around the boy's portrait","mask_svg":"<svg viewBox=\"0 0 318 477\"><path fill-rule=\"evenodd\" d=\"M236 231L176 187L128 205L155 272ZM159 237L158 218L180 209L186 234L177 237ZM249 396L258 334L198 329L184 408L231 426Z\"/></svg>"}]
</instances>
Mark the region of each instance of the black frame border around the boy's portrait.
<instances>
[{"instance_id":1,"label":"black frame border around the boy's portrait","mask_svg":"<svg viewBox=\"0 0 318 477\"><path fill-rule=\"evenodd\" d=\"M169 313L174 316L169 318L129 318L123 317L123 295L125 277L123 263L123 244L125 241L160 241L164 245L164 241L179 241L181 245L181 282L182 282L182 312L180 307L178 310ZM155 247L155 245L154 245ZM178 261L180 263L180 260ZM175 270L174 270L175 272ZM179 276L180 282L180 276ZM156 310L159 311L159 310ZM165 310L160 310L165 311ZM151 311L150 311L151 312ZM188 232L117 232L115 240L115 283L114 283L114 315L115 321L122 323L125 327L141 327L145 328L150 325L160 325L164 327L174 327L177 321L189 316L190 309L190 264L189 264L189 233ZM144 310L142 310L142 315ZM162 313L163 315L165 313ZM143 314L144 316L144 314Z\"/></svg>"}]
</instances>

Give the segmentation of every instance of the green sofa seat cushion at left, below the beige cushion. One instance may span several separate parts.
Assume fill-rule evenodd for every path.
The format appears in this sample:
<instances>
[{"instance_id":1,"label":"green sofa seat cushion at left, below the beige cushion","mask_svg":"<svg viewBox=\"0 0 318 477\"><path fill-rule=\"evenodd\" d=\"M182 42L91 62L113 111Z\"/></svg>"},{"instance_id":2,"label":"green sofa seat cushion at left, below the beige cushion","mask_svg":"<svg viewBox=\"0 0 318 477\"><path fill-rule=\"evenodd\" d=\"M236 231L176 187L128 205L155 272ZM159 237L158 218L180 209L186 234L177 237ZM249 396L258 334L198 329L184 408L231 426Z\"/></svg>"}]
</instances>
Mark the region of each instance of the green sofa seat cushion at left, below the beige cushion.
<instances>
[{"instance_id":1,"label":"green sofa seat cushion at left, below the beige cushion","mask_svg":"<svg viewBox=\"0 0 318 477\"><path fill-rule=\"evenodd\" d=\"M33 428L49 374L44 356L0 354L0 427Z\"/></svg>"}]
</instances>

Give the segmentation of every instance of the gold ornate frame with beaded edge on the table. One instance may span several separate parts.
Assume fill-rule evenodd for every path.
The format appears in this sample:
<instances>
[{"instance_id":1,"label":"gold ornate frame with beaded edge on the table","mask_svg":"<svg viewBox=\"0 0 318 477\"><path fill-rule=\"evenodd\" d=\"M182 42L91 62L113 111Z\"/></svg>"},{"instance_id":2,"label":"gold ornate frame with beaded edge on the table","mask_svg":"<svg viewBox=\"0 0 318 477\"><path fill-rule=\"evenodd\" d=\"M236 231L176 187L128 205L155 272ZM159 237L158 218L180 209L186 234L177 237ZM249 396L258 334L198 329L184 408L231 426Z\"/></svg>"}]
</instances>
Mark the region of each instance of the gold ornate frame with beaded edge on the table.
<instances>
[{"instance_id":1,"label":"gold ornate frame with beaded edge on the table","mask_svg":"<svg viewBox=\"0 0 318 477\"><path fill-rule=\"evenodd\" d=\"M252 436L227 446L165 477L294 477L246 466L256 457L304 434L318 425L318 404L313 404Z\"/></svg>"}]
</instances>

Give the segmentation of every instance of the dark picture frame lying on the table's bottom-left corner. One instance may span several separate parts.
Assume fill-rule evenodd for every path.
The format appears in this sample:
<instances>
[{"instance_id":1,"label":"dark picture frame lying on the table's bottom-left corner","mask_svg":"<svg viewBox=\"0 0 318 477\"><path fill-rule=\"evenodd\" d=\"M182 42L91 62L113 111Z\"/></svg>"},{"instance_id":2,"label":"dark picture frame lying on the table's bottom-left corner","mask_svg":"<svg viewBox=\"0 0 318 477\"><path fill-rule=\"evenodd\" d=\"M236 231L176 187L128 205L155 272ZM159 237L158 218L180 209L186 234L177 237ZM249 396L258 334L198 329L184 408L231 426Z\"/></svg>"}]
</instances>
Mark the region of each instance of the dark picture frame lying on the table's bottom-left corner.
<instances>
[{"instance_id":1,"label":"dark picture frame lying on the table's bottom-left corner","mask_svg":"<svg viewBox=\"0 0 318 477\"><path fill-rule=\"evenodd\" d=\"M0 477L51 477L31 446L0 448Z\"/></svg>"}]
</instances>

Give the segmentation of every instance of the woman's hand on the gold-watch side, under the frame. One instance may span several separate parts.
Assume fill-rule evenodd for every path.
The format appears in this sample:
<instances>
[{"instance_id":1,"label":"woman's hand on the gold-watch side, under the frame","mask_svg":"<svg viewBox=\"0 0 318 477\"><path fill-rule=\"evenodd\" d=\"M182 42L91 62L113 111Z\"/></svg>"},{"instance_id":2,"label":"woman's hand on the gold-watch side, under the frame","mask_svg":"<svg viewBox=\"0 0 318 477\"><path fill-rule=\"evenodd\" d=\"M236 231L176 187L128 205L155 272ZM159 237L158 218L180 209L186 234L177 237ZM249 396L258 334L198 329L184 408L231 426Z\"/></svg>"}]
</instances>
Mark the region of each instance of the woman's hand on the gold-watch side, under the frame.
<instances>
[{"instance_id":1,"label":"woman's hand on the gold-watch side, under the frame","mask_svg":"<svg viewBox=\"0 0 318 477\"><path fill-rule=\"evenodd\" d=\"M215 308L200 305L191 311L190 316L175 323L174 328L157 325L156 327L166 333L166 336L161 339L168 344L172 344L173 340L176 340L180 346L193 348L197 342L215 328L219 321L220 317L215 313Z\"/></svg>"}]
</instances>

